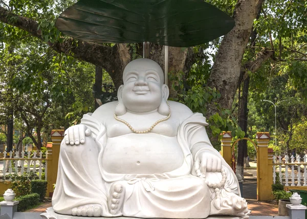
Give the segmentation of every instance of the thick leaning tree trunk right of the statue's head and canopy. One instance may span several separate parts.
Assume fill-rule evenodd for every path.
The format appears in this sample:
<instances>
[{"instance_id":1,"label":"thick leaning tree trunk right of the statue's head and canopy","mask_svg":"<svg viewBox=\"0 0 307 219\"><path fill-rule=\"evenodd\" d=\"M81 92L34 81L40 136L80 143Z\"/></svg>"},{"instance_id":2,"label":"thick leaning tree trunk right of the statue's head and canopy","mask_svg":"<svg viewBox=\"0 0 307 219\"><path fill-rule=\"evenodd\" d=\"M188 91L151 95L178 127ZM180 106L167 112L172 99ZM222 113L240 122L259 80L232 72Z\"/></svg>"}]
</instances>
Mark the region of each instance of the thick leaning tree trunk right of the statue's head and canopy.
<instances>
[{"instance_id":1,"label":"thick leaning tree trunk right of the statue's head and canopy","mask_svg":"<svg viewBox=\"0 0 307 219\"><path fill-rule=\"evenodd\" d=\"M262 2L264 0L238 0L233 14L235 26L224 36L218 49L208 86L221 93L218 101L224 108L231 109L239 84L243 54ZM210 111L209 115L212 115L214 112Z\"/></svg>"}]
</instances>

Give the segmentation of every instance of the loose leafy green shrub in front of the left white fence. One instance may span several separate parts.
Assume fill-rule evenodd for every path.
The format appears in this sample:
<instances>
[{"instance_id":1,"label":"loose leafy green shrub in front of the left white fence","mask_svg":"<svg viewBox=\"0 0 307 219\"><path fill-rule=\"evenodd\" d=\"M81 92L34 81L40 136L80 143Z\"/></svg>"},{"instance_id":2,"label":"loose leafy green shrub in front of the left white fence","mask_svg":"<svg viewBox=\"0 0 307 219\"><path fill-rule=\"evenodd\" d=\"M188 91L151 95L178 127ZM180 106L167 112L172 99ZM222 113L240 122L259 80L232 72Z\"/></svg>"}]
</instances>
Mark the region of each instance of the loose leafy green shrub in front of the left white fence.
<instances>
[{"instance_id":1,"label":"loose leafy green shrub in front of the left white fence","mask_svg":"<svg viewBox=\"0 0 307 219\"><path fill-rule=\"evenodd\" d=\"M30 173L24 173L21 176L13 174L11 177L12 177L11 188L14 190L16 196L30 194L31 181L38 179L38 176L32 171Z\"/></svg>"}]
</instances>

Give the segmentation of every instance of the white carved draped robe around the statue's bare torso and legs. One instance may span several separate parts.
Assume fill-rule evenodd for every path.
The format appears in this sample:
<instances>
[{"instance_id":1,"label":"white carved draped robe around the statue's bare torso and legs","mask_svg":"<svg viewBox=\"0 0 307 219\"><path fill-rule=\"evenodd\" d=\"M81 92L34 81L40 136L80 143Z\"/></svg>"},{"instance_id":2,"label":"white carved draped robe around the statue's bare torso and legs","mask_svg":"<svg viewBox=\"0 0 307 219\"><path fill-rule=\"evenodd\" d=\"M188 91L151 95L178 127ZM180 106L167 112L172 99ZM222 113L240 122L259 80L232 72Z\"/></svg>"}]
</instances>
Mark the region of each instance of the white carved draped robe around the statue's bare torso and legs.
<instances>
[{"instance_id":1,"label":"white carved draped robe around the statue's bare torso and legs","mask_svg":"<svg viewBox=\"0 0 307 219\"><path fill-rule=\"evenodd\" d=\"M107 141L105 126L91 114L84 115L81 124L92 130L93 138L86 137L85 144L79 146L61 143L58 177L52 199L56 212L71 214L75 207L99 204L103 208L103 216L114 216L109 213L107 197L112 183L119 182L125 186L126 192L122 214L118 216L204 218L209 213L235 214L231 205L235 202L232 198L240 195L238 182L204 132L204 126L208 124L202 114L193 114L178 128L177 139L184 155L182 166L171 172L151 175L106 172L101 164ZM203 179L191 174L195 157L203 151L210 151L221 158L227 173L227 181L221 192L222 210L214 204L214 189L207 187ZM215 175L214 183L222 180L221 173L208 172L207 176L210 174ZM172 191L172 186L176 187L176 191ZM200 213L189 214L194 211Z\"/></svg>"}]
</instances>

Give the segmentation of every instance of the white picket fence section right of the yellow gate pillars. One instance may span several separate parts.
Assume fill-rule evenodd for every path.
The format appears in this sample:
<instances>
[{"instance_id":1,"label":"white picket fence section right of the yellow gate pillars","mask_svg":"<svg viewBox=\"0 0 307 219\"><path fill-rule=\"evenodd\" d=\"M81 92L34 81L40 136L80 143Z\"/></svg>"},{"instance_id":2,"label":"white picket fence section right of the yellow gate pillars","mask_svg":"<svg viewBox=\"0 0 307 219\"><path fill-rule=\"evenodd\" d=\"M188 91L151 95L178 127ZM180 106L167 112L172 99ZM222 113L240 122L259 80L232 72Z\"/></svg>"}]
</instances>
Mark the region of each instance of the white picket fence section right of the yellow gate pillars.
<instances>
[{"instance_id":1,"label":"white picket fence section right of the yellow gate pillars","mask_svg":"<svg viewBox=\"0 0 307 219\"><path fill-rule=\"evenodd\" d=\"M291 159L291 160L290 160ZM273 156L273 182L279 180L284 186L307 186L307 155L301 157ZM289 162L291 161L291 162ZM276 173L279 173L279 179L276 179Z\"/></svg>"}]
</instances>

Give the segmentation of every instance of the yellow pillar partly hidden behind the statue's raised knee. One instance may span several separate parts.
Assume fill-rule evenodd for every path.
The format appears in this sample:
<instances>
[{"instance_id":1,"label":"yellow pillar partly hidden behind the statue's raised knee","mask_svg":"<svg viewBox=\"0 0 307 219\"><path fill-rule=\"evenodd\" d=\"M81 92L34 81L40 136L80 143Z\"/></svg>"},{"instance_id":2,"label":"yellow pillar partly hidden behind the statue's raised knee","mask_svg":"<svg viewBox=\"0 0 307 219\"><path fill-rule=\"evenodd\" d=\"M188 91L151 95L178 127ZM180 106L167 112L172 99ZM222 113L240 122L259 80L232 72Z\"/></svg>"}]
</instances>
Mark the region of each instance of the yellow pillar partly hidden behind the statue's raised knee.
<instances>
[{"instance_id":1,"label":"yellow pillar partly hidden behind the statue's raised knee","mask_svg":"<svg viewBox=\"0 0 307 219\"><path fill-rule=\"evenodd\" d=\"M61 141L64 138L63 129L53 129L51 132L52 146L50 142L47 144L48 166L47 166L47 196L52 197L53 185L56 183L58 163L60 156Z\"/></svg>"}]
</instances>

